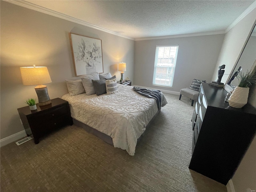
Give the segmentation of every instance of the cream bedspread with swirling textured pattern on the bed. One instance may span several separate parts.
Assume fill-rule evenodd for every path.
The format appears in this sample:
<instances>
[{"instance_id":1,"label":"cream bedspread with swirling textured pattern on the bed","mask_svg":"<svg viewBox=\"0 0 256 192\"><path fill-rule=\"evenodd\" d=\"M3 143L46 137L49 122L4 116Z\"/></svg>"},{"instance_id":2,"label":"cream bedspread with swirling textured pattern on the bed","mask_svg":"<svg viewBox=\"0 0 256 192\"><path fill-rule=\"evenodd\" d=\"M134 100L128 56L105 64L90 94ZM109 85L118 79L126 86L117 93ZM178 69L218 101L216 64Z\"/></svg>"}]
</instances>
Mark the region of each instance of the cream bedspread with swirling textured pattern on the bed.
<instances>
[{"instance_id":1,"label":"cream bedspread with swirling textured pattern on the bed","mask_svg":"<svg viewBox=\"0 0 256 192\"><path fill-rule=\"evenodd\" d=\"M111 136L114 147L135 153L137 139L158 112L156 100L132 90L132 86L118 84L118 93L100 96L65 94L72 118ZM162 94L162 106L167 101Z\"/></svg>"}]
</instances>

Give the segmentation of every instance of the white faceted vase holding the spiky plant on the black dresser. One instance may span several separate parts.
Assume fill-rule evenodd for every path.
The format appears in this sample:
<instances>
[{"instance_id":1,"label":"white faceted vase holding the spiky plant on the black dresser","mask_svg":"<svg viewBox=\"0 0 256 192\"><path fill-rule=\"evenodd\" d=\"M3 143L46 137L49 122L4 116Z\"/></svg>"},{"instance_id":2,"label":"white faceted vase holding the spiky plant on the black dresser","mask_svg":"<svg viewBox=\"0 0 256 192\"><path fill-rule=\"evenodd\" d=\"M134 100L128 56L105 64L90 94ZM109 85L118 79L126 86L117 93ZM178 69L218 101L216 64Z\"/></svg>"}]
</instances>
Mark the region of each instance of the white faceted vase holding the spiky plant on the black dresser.
<instances>
[{"instance_id":1,"label":"white faceted vase holding the spiky plant on the black dresser","mask_svg":"<svg viewBox=\"0 0 256 192\"><path fill-rule=\"evenodd\" d=\"M242 108L248 101L248 95L248 87L236 87L228 99L229 106L234 108Z\"/></svg>"}]
</instances>

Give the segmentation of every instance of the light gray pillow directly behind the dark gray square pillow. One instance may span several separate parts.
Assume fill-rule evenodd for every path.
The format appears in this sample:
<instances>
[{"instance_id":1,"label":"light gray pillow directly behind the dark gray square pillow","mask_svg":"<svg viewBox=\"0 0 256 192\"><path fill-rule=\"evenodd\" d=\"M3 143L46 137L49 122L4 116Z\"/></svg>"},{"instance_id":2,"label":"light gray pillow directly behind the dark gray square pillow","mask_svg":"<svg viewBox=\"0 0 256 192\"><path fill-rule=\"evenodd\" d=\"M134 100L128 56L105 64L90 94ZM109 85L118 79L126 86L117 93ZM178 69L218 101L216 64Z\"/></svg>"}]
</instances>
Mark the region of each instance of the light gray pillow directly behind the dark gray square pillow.
<instances>
[{"instance_id":1,"label":"light gray pillow directly behind the dark gray square pillow","mask_svg":"<svg viewBox=\"0 0 256 192\"><path fill-rule=\"evenodd\" d=\"M95 94L95 90L92 84L92 80L100 80L99 74L98 73L93 73L93 74L88 74L88 75L83 75L80 76L86 95L92 95Z\"/></svg>"}]
</instances>

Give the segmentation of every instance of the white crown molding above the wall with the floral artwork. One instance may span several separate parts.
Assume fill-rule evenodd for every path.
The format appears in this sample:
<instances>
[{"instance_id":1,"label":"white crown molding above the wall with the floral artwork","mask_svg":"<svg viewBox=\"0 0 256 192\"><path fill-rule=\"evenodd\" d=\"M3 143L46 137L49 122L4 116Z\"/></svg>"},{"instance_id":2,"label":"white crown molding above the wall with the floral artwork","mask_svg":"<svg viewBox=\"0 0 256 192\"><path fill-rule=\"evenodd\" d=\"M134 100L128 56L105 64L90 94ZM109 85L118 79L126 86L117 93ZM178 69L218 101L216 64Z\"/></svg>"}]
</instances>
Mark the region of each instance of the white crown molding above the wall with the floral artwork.
<instances>
[{"instance_id":1,"label":"white crown molding above the wall with the floral artwork","mask_svg":"<svg viewBox=\"0 0 256 192\"><path fill-rule=\"evenodd\" d=\"M61 19L67 20L67 21L71 21L71 22L74 22L74 23L77 23L77 24L81 24L83 26L87 26L87 27L94 28L94 29L97 29L97 30L100 30L100 31L103 31L103 32L107 32L107 33L110 33L110 34L113 34L113 35L116 35L116 36L120 36L120 37L123 37L123 38L126 38L126 39L135 40L135 38L110 31L108 29L96 26L94 24L84 22L80 19L76 19L76 18L67 16L65 14L62 14L62 13L59 13L59 12L56 12L56 11L53 11L53 10L50 10L50 9L47 9L47 8L43 8L41 6L26 2L26 1L23 1L23 0L4 0L4 1L15 4L15 5L18 5L18 6L22 6L22 7L28 8L28 9L32 9L34 11L38 11L38 12L41 12L41 13L44 13L44 14L48 14L48 15L51 15L51 16L54 16L54 17L58 17L58 18L61 18Z\"/></svg>"}]
</instances>

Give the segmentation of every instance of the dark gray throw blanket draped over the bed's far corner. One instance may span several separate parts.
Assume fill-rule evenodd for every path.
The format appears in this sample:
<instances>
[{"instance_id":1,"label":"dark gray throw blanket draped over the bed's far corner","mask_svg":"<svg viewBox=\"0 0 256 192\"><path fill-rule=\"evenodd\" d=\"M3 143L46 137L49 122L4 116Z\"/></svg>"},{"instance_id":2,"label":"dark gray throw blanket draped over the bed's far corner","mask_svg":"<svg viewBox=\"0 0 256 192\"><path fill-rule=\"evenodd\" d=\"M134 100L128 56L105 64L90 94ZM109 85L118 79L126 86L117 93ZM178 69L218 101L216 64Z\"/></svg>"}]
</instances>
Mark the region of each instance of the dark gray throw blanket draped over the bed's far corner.
<instances>
[{"instance_id":1,"label":"dark gray throw blanket draped over the bed's far corner","mask_svg":"<svg viewBox=\"0 0 256 192\"><path fill-rule=\"evenodd\" d=\"M156 100L158 110L160 110L161 103L162 103L161 91L145 89L145 88L140 88L140 87L134 87L133 90L136 91L138 94L143 95L145 97L154 98Z\"/></svg>"}]
</instances>

